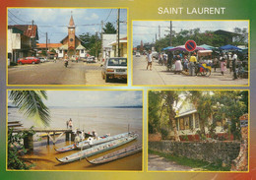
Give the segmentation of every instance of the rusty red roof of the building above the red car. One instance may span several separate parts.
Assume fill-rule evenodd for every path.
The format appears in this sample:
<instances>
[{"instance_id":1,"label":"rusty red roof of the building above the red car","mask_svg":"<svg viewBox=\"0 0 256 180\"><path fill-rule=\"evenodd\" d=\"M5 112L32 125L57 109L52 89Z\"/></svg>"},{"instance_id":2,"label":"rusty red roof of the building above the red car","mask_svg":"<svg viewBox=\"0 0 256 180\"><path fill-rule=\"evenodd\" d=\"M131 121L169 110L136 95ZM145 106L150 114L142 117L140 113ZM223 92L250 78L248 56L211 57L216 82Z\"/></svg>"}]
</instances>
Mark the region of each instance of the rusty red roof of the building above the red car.
<instances>
[{"instance_id":1,"label":"rusty red roof of the building above the red car","mask_svg":"<svg viewBox=\"0 0 256 180\"><path fill-rule=\"evenodd\" d=\"M8 28L16 28L18 30L23 30L23 34L28 37L34 37L38 40L37 26L36 25L13 25L8 26Z\"/></svg>"}]
</instances>

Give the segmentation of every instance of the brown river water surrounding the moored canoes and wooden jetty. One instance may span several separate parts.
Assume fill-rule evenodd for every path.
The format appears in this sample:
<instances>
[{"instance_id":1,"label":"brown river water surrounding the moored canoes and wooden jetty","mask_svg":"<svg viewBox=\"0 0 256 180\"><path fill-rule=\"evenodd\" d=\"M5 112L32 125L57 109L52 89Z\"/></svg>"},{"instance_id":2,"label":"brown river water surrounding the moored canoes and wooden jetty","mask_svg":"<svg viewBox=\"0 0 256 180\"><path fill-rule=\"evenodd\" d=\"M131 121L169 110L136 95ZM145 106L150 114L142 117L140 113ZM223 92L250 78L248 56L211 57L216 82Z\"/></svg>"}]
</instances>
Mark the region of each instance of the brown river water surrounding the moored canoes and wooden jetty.
<instances>
[{"instance_id":1,"label":"brown river water surrounding the moored canoes and wooden jetty","mask_svg":"<svg viewBox=\"0 0 256 180\"><path fill-rule=\"evenodd\" d=\"M66 121L73 120L73 129L79 128L85 132L96 131L97 135L110 134L111 136L135 132L138 139L114 150L89 157L94 159L103 154L121 150L125 147L142 144L142 108L50 108L50 128L66 129ZM8 109L8 121L21 121L24 128L38 127L32 120L28 120L17 108ZM122 159L118 159L102 165L91 165L86 159L81 159L68 164L60 164L55 157L63 157L78 150L57 152L54 150L73 144L65 141L65 136L57 141L55 145L46 145L46 138L39 138L34 135L34 149L27 153L24 158L34 163L32 170L142 170L142 152L136 153Z\"/></svg>"}]
</instances>

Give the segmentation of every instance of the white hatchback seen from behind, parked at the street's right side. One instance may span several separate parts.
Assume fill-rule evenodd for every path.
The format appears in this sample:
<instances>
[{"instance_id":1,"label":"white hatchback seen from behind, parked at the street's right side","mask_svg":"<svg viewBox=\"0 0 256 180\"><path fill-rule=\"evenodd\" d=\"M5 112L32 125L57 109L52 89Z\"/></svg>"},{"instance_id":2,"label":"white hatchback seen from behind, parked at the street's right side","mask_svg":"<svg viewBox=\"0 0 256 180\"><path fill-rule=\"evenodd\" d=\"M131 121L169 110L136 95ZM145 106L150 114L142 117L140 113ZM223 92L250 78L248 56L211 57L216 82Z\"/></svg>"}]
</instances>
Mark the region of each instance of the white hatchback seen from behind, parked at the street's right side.
<instances>
[{"instance_id":1,"label":"white hatchback seen from behind, parked at the street's right side","mask_svg":"<svg viewBox=\"0 0 256 180\"><path fill-rule=\"evenodd\" d=\"M127 58L108 58L101 66L101 76L106 83L109 82L110 79L127 80Z\"/></svg>"}]
</instances>

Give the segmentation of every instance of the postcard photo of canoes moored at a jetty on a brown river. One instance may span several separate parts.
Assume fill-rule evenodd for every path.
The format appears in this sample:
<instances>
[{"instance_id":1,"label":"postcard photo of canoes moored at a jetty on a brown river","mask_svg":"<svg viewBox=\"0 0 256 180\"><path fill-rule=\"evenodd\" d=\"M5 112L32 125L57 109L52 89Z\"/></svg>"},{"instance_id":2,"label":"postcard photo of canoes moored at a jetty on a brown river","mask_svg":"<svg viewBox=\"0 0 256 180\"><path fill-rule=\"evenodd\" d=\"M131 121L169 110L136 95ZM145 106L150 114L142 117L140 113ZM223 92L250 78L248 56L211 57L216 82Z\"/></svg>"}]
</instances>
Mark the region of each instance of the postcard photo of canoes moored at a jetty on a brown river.
<instances>
[{"instance_id":1,"label":"postcard photo of canoes moored at a jetty on a brown river","mask_svg":"<svg viewBox=\"0 0 256 180\"><path fill-rule=\"evenodd\" d=\"M142 114L142 90L8 90L6 170L142 171Z\"/></svg>"}]
</instances>

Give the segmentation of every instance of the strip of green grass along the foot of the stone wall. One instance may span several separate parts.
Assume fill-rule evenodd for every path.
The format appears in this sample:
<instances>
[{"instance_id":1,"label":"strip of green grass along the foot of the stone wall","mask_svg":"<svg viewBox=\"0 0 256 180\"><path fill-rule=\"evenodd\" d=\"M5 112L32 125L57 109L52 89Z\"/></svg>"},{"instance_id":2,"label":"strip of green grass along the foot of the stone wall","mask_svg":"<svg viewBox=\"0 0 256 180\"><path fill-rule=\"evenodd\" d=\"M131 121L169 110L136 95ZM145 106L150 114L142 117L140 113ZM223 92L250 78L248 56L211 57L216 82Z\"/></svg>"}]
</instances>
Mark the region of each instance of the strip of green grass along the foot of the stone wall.
<instances>
[{"instance_id":1,"label":"strip of green grass along the foot of the stone wall","mask_svg":"<svg viewBox=\"0 0 256 180\"><path fill-rule=\"evenodd\" d=\"M149 153L160 155L167 160L174 161L178 163L179 165L186 165L192 168L200 168L200 171L229 171L230 166L227 165L225 167L222 166L222 161L218 163L210 163L206 162L203 160L196 160L196 159L191 159L183 156L175 156L171 155L169 153L164 153L156 150L149 150Z\"/></svg>"}]
</instances>

